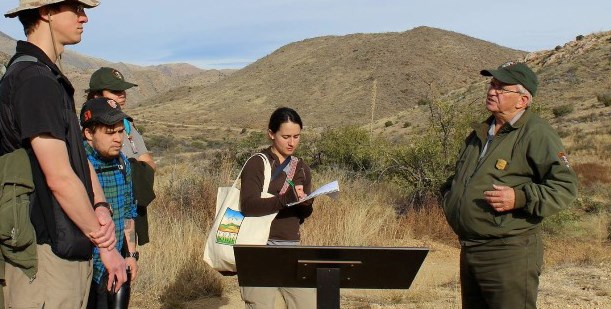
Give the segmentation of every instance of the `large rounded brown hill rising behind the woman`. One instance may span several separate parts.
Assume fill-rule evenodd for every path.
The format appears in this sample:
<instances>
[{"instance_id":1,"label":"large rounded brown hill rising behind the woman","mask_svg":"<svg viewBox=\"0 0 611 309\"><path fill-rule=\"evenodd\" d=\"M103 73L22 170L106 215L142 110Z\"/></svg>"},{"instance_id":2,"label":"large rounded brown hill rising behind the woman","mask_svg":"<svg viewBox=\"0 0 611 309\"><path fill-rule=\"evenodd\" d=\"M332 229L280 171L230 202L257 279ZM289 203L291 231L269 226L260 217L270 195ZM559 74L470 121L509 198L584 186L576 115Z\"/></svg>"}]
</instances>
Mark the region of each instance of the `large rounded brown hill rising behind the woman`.
<instances>
[{"instance_id":1,"label":"large rounded brown hill rising behind the woman","mask_svg":"<svg viewBox=\"0 0 611 309\"><path fill-rule=\"evenodd\" d=\"M426 98L428 83L446 93L480 79L481 68L526 54L429 27L319 37L286 45L214 85L174 89L137 113L250 128L265 123L274 108L290 106L308 126L366 124L374 81L375 115L386 117Z\"/></svg>"}]
</instances>

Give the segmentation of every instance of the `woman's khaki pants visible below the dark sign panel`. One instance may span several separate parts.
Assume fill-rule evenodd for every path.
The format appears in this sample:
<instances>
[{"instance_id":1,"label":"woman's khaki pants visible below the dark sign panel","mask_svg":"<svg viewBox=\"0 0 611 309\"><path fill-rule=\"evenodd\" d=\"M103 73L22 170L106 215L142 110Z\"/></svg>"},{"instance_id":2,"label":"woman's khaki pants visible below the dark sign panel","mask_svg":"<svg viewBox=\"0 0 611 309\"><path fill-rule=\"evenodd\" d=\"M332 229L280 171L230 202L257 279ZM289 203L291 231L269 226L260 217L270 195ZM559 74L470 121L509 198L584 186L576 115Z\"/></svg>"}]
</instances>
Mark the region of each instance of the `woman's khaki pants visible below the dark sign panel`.
<instances>
[{"instance_id":1,"label":"woman's khaki pants visible below the dark sign panel","mask_svg":"<svg viewBox=\"0 0 611 309\"><path fill-rule=\"evenodd\" d=\"M316 289L241 287L240 292L248 309L275 308L277 292L280 292L280 295L284 298L286 308L316 308Z\"/></svg>"}]
</instances>

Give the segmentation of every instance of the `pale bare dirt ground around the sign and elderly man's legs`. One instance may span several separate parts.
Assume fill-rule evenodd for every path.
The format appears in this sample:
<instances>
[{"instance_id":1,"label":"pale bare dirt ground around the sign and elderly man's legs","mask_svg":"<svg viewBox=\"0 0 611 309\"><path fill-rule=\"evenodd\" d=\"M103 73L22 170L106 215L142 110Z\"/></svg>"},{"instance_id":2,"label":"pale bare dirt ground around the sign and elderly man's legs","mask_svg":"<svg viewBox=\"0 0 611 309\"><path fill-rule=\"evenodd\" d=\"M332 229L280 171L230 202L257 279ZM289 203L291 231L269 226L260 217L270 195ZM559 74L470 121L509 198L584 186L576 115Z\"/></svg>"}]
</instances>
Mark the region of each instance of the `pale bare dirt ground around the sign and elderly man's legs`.
<instances>
[{"instance_id":1,"label":"pale bare dirt ground around the sign and elderly man's legs","mask_svg":"<svg viewBox=\"0 0 611 309\"><path fill-rule=\"evenodd\" d=\"M222 297L198 299L182 308L244 308L235 277L225 277ZM152 308L134 295L131 308ZM282 307L281 297L277 308ZM341 307L377 308L460 308L458 249L435 245L409 290L341 291ZM539 308L611 308L611 265L563 266L544 269L539 285ZM158 308L164 308L161 304Z\"/></svg>"}]
</instances>

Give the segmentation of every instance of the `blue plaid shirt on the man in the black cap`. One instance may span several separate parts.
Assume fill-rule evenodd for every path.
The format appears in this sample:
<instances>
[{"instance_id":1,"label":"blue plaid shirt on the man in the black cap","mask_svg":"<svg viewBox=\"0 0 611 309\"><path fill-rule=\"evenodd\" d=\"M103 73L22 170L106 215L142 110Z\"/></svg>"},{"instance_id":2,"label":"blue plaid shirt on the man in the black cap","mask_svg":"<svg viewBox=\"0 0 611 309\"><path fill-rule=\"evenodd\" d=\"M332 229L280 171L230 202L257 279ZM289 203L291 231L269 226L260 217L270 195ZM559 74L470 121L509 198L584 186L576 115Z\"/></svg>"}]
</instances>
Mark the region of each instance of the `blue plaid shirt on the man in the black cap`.
<instances>
[{"instance_id":1,"label":"blue plaid shirt on the man in the black cap","mask_svg":"<svg viewBox=\"0 0 611 309\"><path fill-rule=\"evenodd\" d=\"M112 220L115 222L115 237L117 238L117 250L123 248L125 221L137 216L136 204L132 189L132 170L127 157L121 153L119 158L110 161L103 160L98 153L86 141L84 142L87 158L93 165L98 175L98 180L104 190L106 201L112 206ZM121 161L123 164L121 164ZM119 169L118 167L123 167ZM106 272L104 264L100 259L98 248L93 248L93 280L100 283L100 279Z\"/></svg>"}]
</instances>

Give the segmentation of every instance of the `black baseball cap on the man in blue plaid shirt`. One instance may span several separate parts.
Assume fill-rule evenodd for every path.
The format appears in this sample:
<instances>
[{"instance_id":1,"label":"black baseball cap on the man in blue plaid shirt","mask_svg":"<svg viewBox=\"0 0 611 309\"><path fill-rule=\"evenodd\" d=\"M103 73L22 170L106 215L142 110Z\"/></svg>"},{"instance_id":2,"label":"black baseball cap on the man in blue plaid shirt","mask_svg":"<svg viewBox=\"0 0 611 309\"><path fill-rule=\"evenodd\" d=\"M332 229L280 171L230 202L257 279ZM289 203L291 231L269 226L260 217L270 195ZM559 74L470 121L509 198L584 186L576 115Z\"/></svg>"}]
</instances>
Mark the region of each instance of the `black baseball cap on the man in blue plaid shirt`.
<instances>
[{"instance_id":1,"label":"black baseball cap on the man in blue plaid shirt","mask_svg":"<svg viewBox=\"0 0 611 309\"><path fill-rule=\"evenodd\" d=\"M107 98L95 98L85 102L81 108L80 119L83 128L92 123L112 126L123 121L123 119L133 121L115 101Z\"/></svg>"}]
</instances>

